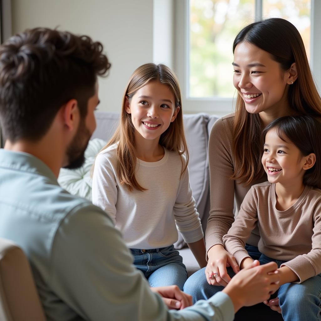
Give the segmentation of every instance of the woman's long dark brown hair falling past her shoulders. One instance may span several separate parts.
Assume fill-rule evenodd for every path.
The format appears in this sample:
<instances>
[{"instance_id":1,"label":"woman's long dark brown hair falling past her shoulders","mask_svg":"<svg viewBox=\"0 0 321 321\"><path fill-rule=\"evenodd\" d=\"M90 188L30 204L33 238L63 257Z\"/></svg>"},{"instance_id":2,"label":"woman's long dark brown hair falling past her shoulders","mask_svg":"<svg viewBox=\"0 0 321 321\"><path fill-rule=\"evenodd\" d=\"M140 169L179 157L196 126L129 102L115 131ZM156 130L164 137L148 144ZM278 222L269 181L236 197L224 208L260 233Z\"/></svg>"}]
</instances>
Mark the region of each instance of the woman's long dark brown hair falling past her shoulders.
<instances>
[{"instance_id":1,"label":"woman's long dark brown hair falling past her shoulders","mask_svg":"<svg viewBox=\"0 0 321 321\"><path fill-rule=\"evenodd\" d=\"M321 117L321 98L312 78L304 44L291 22L270 18L251 23L236 36L233 53L240 42L249 42L270 53L284 72L296 63L298 79L289 85L289 106L298 115ZM260 159L262 129L259 115L248 113L244 100L238 95L233 128L235 166L231 178L239 179L245 185L264 174Z\"/></svg>"}]
</instances>

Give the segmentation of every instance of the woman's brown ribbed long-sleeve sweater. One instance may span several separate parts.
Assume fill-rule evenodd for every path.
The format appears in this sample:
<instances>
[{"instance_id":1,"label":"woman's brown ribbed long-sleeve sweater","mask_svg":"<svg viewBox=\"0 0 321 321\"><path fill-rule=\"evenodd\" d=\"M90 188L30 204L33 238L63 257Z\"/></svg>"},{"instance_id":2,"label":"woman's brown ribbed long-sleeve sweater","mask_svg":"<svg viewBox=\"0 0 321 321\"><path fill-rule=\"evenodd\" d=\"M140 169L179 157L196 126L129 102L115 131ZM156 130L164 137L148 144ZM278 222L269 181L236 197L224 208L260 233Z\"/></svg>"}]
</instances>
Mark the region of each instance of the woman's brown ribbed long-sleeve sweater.
<instances>
[{"instance_id":1,"label":"woman's brown ribbed long-sleeve sweater","mask_svg":"<svg viewBox=\"0 0 321 321\"><path fill-rule=\"evenodd\" d=\"M223 245L222 237L234 222L234 196L238 212L251 186L267 180L265 174L260 180L245 187L239 181L229 178L234 172L235 164L232 147L233 121L234 114L218 119L209 138L211 210L205 232L206 251L215 244ZM257 246L259 239L259 232L255 229L247 243Z\"/></svg>"}]
</instances>

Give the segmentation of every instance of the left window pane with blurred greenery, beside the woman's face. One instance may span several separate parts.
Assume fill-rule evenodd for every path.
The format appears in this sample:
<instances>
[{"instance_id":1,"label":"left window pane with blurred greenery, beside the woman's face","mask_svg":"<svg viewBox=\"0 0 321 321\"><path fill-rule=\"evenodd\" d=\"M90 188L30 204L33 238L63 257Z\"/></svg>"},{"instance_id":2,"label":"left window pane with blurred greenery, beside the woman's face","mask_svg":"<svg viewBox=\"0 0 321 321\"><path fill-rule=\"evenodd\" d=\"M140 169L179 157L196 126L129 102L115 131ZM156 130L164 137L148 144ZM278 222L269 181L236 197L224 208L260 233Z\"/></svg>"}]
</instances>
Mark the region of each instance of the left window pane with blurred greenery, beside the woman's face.
<instances>
[{"instance_id":1,"label":"left window pane with blurred greenery, beside the woman's face","mask_svg":"<svg viewBox=\"0 0 321 321\"><path fill-rule=\"evenodd\" d=\"M254 9L254 0L189 1L189 97L233 97L232 43L238 31L255 20Z\"/></svg>"}]
</instances>

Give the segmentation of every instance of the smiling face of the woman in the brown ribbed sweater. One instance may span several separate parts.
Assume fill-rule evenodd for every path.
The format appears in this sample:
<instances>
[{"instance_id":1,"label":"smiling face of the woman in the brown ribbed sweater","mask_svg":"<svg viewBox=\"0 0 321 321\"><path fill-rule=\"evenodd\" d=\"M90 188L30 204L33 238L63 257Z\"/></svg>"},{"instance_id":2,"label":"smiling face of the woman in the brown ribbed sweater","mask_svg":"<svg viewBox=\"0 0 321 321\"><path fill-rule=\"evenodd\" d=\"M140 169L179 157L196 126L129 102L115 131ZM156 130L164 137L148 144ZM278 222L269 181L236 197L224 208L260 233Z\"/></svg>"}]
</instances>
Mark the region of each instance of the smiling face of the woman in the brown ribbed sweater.
<instances>
[{"instance_id":1,"label":"smiling face of the woman in the brown ribbed sweater","mask_svg":"<svg viewBox=\"0 0 321 321\"><path fill-rule=\"evenodd\" d=\"M288 106L289 72L272 56L249 42L239 43L234 50L233 84L251 114L268 113L283 116Z\"/></svg>"}]
</instances>

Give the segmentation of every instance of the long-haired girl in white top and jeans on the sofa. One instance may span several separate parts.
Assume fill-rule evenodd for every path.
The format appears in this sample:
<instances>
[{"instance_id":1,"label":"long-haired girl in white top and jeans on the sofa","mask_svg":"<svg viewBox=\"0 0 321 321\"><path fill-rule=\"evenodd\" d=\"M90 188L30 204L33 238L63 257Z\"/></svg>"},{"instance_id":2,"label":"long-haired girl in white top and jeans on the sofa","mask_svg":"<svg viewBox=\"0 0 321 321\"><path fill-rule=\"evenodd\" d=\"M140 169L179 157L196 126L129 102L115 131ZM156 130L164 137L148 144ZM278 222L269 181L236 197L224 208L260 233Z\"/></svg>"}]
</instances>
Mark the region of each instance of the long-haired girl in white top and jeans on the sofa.
<instances>
[{"instance_id":1,"label":"long-haired girl in white top and jeans on the sofa","mask_svg":"<svg viewBox=\"0 0 321 321\"><path fill-rule=\"evenodd\" d=\"M183 289L177 229L206 265L187 164L178 80L165 65L142 65L126 87L117 131L96 158L92 201L111 216L153 287Z\"/></svg>"}]
</instances>

